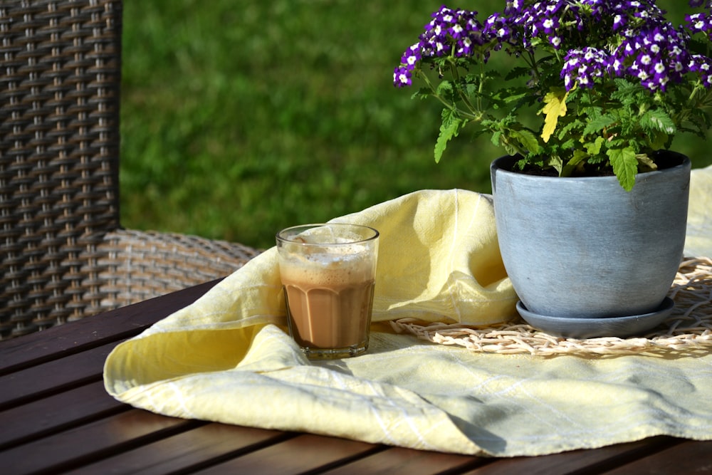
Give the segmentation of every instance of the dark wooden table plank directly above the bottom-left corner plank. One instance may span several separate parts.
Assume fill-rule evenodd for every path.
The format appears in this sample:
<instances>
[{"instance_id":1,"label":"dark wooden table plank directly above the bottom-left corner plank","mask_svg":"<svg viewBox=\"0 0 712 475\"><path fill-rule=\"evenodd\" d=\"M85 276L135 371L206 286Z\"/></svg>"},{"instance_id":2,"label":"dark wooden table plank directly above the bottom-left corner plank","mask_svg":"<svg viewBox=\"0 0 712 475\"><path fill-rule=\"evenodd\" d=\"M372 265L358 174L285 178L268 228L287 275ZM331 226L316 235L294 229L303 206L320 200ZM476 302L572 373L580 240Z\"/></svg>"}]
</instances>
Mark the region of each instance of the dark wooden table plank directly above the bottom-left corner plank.
<instances>
[{"instance_id":1,"label":"dark wooden table plank directly above the bottom-left corner plank","mask_svg":"<svg viewBox=\"0 0 712 475\"><path fill-rule=\"evenodd\" d=\"M127 411L102 381L0 412L0 450Z\"/></svg>"}]
</instances>

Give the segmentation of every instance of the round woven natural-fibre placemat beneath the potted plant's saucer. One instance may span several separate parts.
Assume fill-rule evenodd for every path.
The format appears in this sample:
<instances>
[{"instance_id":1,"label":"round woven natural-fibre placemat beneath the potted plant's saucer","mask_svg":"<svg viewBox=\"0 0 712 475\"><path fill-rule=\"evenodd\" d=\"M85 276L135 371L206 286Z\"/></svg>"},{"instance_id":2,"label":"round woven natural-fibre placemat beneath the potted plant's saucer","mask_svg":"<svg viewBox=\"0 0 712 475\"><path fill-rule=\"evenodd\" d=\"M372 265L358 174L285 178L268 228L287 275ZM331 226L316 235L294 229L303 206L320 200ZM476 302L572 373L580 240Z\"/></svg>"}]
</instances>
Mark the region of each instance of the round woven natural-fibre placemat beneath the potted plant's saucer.
<instances>
[{"instance_id":1,"label":"round woven natural-fibre placemat beneath the potted plant's saucer","mask_svg":"<svg viewBox=\"0 0 712 475\"><path fill-rule=\"evenodd\" d=\"M520 318L487 327L427 323L413 318L393 320L391 325L399 333L481 353L631 355L712 348L712 259L683 259L669 297L675 301L670 317L647 335L636 338L562 338L536 330Z\"/></svg>"}]
</instances>

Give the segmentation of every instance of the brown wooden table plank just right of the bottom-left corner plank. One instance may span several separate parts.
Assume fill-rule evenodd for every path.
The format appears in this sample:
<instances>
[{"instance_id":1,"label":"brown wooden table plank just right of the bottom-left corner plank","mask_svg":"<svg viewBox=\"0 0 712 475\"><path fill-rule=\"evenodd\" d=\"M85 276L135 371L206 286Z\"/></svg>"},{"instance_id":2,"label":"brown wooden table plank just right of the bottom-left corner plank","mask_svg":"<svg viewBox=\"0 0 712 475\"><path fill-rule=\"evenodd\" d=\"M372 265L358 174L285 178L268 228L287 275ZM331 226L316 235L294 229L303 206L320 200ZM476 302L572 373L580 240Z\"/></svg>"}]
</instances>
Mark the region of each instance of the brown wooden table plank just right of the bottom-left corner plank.
<instances>
[{"instance_id":1,"label":"brown wooden table plank just right of the bottom-left corner plank","mask_svg":"<svg viewBox=\"0 0 712 475\"><path fill-rule=\"evenodd\" d=\"M265 429L207 424L88 464L69 471L68 474L187 473L295 436L296 434Z\"/></svg>"}]
</instances>

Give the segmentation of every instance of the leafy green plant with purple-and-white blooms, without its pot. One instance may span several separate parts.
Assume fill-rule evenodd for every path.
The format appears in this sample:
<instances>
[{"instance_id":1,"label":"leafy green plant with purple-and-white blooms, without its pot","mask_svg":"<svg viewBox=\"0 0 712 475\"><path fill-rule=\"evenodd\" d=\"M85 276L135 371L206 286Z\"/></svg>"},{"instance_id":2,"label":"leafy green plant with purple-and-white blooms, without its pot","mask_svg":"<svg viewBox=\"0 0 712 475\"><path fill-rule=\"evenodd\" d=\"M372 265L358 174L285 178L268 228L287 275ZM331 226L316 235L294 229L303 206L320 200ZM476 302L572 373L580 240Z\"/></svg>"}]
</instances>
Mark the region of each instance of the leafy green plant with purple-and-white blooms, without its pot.
<instances>
[{"instance_id":1,"label":"leafy green plant with purple-and-white blooms, without its pot","mask_svg":"<svg viewBox=\"0 0 712 475\"><path fill-rule=\"evenodd\" d=\"M664 18L670 22L665 31L672 31L682 22L681 11L687 9L687 2L666 3L658 2L670 11ZM686 36L660 33L668 28L667 24L659 28L660 23L655 25L656 38L649 40L649 21L662 21L661 16L652 10L649 15L637 14L637 7L620 4L615 12L627 18L626 31L634 32L638 45L624 48L627 38L614 28L613 15L604 19L590 16L579 24L580 17L572 13L576 5L557 11L560 26L554 27L558 28L555 33L523 26L520 17L493 30L515 31L511 38L477 26L478 21L497 24L509 14L488 19L491 12L487 12L473 21L467 11L443 6L433 15L437 27L419 37L419 56L401 63L399 77L405 79L397 85L409 84L410 78L421 79L426 88L419 97L435 98L445 105L434 151L436 162L455 137L471 129L476 137L488 135L491 143L507 154L521 155L520 167L530 172L553 168L562 176L615 174L622 187L630 190L638 172L656 168L654 152L689 142L689 137L674 142L679 132L706 137L712 125L712 89L703 88L706 78L689 68L693 61L669 59L688 49L681 40ZM529 7L536 11L536 18L529 20L543 23L548 15L545 6L524 0L517 9ZM622 11L624 8L627 11ZM499 4L497 11L502 10ZM587 10L588 15L591 12ZM471 49L462 47L463 36L475 38ZM552 38L567 47L555 48ZM699 39L689 43L689 50L708 54L712 41ZM527 42L529 46L525 46ZM660 59L663 56L638 53L639 48L652 43L651 51L669 52L670 56ZM567 51L577 52L575 63L567 59ZM609 59L614 52L620 53L615 63ZM627 69L629 66L632 69ZM436 79L431 78L431 71L437 71ZM627 75L617 77L611 71L626 71ZM661 71L671 71L667 80L659 79ZM675 80L678 71L684 73L681 81ZM546 170L541 172L547 174Z\"/></svg>"}]
</instances>

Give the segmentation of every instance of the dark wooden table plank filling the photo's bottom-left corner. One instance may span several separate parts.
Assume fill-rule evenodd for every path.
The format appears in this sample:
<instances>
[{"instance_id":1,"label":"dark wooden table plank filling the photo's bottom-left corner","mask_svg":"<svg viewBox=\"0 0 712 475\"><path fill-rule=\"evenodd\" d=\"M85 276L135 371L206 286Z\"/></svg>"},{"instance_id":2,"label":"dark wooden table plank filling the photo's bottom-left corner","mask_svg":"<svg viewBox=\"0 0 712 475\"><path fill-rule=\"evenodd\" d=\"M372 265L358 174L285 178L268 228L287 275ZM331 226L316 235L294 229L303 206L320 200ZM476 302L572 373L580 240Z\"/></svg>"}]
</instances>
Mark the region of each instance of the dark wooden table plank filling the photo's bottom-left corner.
<instances>
[{"instance_id":1,"label":"dark wooden table plank filling the photo's bottom-left corner","mask_svg":"<svg viewBox=\"0 0 712 475\"><path fill-rule=\"evenodd\" d=\"M0 467L13 475L63 473L202 424L131 409L2 451Z\"/></svg>"}]
</instances>

